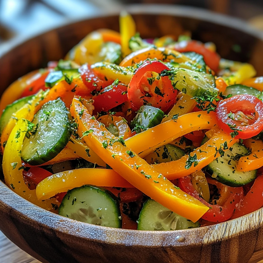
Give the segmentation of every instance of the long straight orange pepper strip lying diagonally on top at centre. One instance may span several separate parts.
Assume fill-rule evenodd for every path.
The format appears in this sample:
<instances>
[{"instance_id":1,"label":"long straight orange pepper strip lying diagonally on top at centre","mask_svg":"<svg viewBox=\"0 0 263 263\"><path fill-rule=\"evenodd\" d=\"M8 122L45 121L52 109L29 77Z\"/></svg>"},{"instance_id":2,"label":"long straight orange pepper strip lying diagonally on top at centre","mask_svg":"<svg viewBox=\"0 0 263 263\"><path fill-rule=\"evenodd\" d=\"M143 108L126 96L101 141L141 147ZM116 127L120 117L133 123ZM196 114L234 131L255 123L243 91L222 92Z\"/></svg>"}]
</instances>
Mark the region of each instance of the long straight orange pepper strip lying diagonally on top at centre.
<instances>
[{"instance_id":1,"label":"long straight orange pepper strip lying diagonally on top at centre","mask_svg":"<svg viewBox=\"0 0 263 263\"><path fill-rule=\"evenodd\" d=\"M80 120L78 112L81 110L84 112ZM104 125L94 120L78 100L73 99L70 111L77 120L79 134L83 134L90 148L114 171L144 194L193 222L196 222L209 209L178 189L145 160L133 153L125 146L124 140L119 140Z\"/></svg>"}]
</instances>

